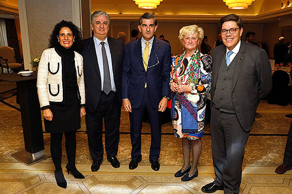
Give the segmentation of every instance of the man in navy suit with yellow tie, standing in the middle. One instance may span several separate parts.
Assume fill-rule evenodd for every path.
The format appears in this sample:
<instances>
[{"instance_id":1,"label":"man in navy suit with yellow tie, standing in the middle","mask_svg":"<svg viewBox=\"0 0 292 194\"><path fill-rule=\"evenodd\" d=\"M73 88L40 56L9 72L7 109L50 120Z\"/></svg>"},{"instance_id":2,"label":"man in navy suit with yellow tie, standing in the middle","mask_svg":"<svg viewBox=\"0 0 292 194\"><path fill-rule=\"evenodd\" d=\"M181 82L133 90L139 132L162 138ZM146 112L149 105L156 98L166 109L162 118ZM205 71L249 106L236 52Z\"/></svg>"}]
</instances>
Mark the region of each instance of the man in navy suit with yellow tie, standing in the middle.
<instances>
[{"instance_id":1,"label":"man in navy suit with yellow tie, standing in the middle","mask_svg":"<svg viewBox=\"0 0 292 194\"><path fill-rule=\"evenodd\" d=\"M129 112L132 160L129 169L141 162L141 129L144 112L147 111L151 126L149 162L158 171L160 164L161 113L170 95L169 80L171 56L169 44L154 37L156 18L145 13L140 17L138 29L142 37L125 47L122 71L123 107Z\"/></svg>"}]
</instances>

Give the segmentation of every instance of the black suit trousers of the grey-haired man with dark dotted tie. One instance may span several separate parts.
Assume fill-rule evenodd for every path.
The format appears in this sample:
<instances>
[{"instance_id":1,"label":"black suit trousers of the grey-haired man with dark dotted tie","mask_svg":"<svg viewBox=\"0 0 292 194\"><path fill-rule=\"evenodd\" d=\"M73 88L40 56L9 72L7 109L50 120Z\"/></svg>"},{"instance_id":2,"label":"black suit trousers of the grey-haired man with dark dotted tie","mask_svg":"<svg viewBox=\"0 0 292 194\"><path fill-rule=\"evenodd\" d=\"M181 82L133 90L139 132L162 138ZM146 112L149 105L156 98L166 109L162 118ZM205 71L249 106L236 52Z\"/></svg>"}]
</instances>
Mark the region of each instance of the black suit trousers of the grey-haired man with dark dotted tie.
<instances>
[{"instance_id":1,"label":"black suit trousers of the grey-haired man with dark dotted tie","mask_svg":"<svg viewBox=\"0 0 292 194\"><path fill-rule=\"evenodd\" d=\"M121 105L116 92L106 95L102 92L94 112L86 111L88 146L93 162L103 159L103 120L105 123L105 149L108 157L118 153L120 141Z\"/></svg>"}]
</instances>

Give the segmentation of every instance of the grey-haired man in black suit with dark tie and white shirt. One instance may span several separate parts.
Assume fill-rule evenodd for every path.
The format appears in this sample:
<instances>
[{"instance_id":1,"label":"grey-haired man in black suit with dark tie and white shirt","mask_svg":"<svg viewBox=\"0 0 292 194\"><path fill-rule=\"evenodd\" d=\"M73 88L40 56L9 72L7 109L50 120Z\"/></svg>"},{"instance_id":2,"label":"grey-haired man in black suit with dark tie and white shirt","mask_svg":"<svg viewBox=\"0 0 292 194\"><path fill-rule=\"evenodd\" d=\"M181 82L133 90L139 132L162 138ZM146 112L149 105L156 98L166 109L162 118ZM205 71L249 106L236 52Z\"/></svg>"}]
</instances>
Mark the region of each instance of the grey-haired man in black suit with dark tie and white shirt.
<instances>
[{"instance_id":1,"label":"grey-haired man in black suit with dark tie and white shirt","mask_svg":"<svg viewBox=\"0 0 292 194\"><path fill-rule=\"evenodd\" d=\"M82 49L87 102L86 126L93 160L91 171L98 171L103 161L103 120L108 161L114 168L120 167L116 155L120 140L124 43L108 37L109 27L110 16L104 11L95 11L91 15L94 36L84 40Z\"/></svg>"}]
</instances>

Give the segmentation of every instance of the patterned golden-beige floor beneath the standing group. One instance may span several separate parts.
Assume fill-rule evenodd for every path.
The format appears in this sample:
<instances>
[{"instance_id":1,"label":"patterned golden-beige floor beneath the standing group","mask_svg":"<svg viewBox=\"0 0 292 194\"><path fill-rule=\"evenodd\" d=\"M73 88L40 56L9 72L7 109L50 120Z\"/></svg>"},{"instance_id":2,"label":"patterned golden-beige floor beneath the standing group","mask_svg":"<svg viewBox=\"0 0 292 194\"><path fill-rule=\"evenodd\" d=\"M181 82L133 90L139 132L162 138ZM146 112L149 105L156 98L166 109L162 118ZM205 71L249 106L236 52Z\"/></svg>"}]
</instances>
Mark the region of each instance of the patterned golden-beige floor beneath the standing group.
<instances>
[{"instance_id":1,"label":"patterned golden-beige floor beneath the standing group","mask_svg":"<svg viewBox=\"0 0 292 194\"><path fill-rule=\"evenodd\" d=\"M6 102L19 107L15 96ZM261 101L256 113L251 136L247 142L243 161L240 194L291 194L292 171L284 175L274 173L282 163L283 152L291 119L292 105L286 107ZM150 146L149 124L143 125L142 162L135 170L128 169L130 162L130 138L128 114L122 111L118 159L120 168L113 168L104 161L98 172L91 172L91 157L87 135L83 129L77 132L76 166L85 179L67 175L67 157L63 149L62 167L68 182L67 189L55 183L54 165L51 158L27 166L11 157L24 149L20 113L0 103L0 194L201 194L201 187L214 180L210 129L205 127L202 152L199 160L199 176L182 182L173 174L183 163L181 140L172 135L171 123L163 126L161 169L153 171L148 162ZM44 133L45 146L50 145L50 135ZM63 142L64 144L64 142ZM64 147L64 146L63 146ZM217 191L215 194L223 194Z\"/></svg>"}]
</instances>

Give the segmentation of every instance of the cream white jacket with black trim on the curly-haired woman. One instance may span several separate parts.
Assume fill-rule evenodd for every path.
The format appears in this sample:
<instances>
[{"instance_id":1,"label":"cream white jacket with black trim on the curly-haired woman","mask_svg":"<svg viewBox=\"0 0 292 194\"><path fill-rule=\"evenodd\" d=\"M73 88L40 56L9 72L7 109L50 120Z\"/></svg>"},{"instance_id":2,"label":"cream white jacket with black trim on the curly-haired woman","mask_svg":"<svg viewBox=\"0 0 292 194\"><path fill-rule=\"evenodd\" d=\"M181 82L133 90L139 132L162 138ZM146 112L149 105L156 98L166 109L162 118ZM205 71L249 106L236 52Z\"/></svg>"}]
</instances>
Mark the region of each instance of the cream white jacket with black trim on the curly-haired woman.
<instances>
[{"instance_id":1,"label":"cream white jacket with black trim on the curly-haired woman","mask_svg":"<svg viewBox=\"0 0 292 194\"><path fill-rule=\"evenodd\" d=\"M83 75L83 58L74 51L76 78L79 89L79 100L81 105L85 105L85 86ZM65 83L62 79L63 68L62 58L54 48L43 51L37 71L37 94L41 110L52 104L63 103Z\"/></svg>"}]
</instances>

